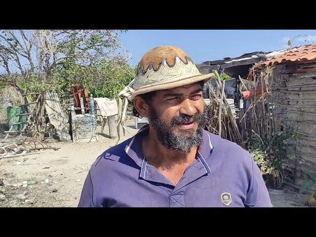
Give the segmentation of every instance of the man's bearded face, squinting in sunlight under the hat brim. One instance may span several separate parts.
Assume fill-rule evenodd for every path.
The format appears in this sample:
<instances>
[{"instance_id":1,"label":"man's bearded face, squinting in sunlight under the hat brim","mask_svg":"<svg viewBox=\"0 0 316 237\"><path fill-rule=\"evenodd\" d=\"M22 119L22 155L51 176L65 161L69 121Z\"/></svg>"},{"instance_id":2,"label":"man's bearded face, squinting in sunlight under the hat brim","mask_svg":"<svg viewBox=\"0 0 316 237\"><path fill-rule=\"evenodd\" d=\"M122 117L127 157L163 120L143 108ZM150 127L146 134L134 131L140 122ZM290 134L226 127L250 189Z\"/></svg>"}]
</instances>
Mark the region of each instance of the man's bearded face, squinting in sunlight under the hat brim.
<instances>
[{"instance_id":1,"label":"man's bearded face, squinting in sunlight under the hat brim","mask_svg":"<svg viewBox=\"0 0 316 237\"><path fill-rule=\"evenodd\" d=\"M148 118L166 148L188 153L200 145L206 122L202 86L194 83L156 91L149 102Z\"/></svg>"}]
</instances>

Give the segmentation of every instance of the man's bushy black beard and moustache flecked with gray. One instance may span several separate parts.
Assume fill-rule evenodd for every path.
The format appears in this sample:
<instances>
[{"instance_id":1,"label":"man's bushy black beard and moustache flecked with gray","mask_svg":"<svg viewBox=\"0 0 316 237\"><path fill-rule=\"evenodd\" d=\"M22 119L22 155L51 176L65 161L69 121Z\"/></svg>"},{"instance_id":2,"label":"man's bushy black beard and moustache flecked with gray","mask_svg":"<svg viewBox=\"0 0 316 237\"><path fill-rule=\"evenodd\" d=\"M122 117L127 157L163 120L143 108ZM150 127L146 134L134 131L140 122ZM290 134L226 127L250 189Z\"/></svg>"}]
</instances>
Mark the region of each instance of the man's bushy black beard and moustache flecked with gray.
<instances>
[{"instance_id":1,"label":"man's bushy black beard and moustache flecked with gray","mask_svg":"<svg viewBox=\"0 0 316 237\"><path fill-rule=\"evenodd\" d=\"M149 122L157 132L159 142L168 150L181 153L189 153L191 148L197 147L202 142L202 129L206 124L205 110L204 114L195 114L193 116L178 116L171 119L169 124L165 123L161 117L158 117L156 111L151 108ZM188 122L191 119L198 122L197 131L185 130L179 134L174 133L177 124Z\"/></svg>"}]
</instances>

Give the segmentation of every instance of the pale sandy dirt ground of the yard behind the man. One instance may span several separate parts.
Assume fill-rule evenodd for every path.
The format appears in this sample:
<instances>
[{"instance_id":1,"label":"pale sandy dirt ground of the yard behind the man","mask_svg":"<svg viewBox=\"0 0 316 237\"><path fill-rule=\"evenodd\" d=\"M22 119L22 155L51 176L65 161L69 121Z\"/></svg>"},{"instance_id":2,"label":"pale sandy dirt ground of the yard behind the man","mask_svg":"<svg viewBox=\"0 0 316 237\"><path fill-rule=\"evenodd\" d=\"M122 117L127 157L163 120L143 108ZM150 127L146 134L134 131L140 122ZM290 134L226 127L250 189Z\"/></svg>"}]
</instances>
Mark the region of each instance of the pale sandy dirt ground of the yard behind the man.
<instances>
[{"instance_id":1,"label":"pale sandy dirt ground of the yard behind the man","mask_svg":"<svg viewBox=\"0 0 316 237\"><path fill-rule=\"evenodd\" d=\"M136 134L133 121L126 123L130 133L121 141ZM98 130L101 127L98 126ZM45 150L41 154L0 159L0 207L76 207L81 189L91 164L117 140L98 135L98 142L49 143L56 151ZM37 181L23 187L23 181ZM270 194L275 207L306 206L305 196L286 191L282 195Z\"/></svg>"}]
</instances>

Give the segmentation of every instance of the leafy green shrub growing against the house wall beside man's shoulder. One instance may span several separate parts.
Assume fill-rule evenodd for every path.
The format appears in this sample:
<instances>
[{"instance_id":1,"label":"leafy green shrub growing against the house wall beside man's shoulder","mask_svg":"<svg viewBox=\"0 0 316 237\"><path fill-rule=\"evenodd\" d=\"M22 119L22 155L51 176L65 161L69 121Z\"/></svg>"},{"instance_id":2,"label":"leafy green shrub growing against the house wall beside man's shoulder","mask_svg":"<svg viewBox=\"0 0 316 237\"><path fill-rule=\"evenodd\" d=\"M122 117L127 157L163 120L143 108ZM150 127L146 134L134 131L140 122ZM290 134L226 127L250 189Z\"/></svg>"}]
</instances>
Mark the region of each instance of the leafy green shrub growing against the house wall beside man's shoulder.
<instances>
[{"instance_id":1,"label":"leafy green shrub growing against the house wall beside man's shoulder","mask_svg":"<svg viewBox=\"0 0 316 237\"><path fill-rule=\"evenodd\" d=\"M275 188L280 188L289 170L286 148L291 135L278 132L270 138L262 139L253 130L249 141L249 152L259 166L264 179Z\"/></svg>"}]
</instances>

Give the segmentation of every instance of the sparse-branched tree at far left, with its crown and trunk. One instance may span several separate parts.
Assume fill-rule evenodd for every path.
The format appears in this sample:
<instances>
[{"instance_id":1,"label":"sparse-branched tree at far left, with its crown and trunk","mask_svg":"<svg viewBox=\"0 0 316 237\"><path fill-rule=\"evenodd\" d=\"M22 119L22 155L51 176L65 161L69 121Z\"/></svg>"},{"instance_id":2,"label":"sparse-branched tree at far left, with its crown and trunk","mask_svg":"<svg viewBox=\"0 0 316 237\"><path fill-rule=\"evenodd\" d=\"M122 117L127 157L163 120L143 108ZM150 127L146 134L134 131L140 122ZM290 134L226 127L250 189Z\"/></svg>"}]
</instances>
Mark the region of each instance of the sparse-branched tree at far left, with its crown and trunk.
<instances>
[{"instance_id":1,"label":"sparse-branched tree at far left, with its crown and trunk","mask_svg":"<svg viewBox=\"0 0 316 237\"><path fill-rule=\"evenodd\" d=\"M60 88L57 67L71 70L97 68L101 62L123 62L114 56L119 49L116 30L2 30L0 31L0 84L11 85L21 94L39 93L33 118L33 136L44 138L46 91ZM74 66L73 68L71 66ZM77 67L76 67L77 66ZM81 68L81 69L79 69ZM67 79L64 77L63 79ZM67 85L65 82L64 86ZM28 103L28 97L25 103ZM27 107L30 112L30 108Z\"/></svg>"}]
</instances>

